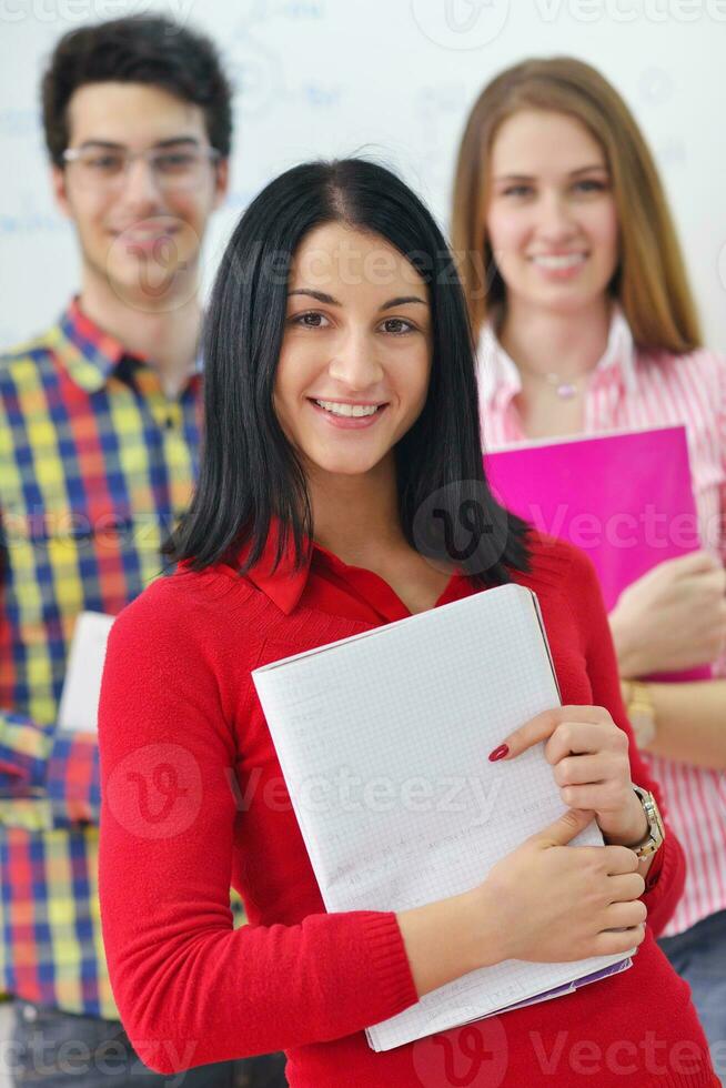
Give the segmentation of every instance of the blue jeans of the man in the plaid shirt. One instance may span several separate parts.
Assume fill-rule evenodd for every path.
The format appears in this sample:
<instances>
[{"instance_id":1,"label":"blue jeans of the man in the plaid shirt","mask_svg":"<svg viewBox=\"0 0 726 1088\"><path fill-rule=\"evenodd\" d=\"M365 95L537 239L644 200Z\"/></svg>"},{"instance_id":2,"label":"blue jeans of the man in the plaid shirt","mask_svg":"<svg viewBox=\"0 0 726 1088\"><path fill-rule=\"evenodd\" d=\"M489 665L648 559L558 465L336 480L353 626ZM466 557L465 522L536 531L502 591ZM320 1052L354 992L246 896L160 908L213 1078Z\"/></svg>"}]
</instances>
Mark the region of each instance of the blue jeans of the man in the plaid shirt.
<instances>
[{"instance_id":1,"label":"blue jeans of the man in the plaid shirt","mask_svg":"<svg viewBox=\"0 0 726 1088\"><path fill-rule=\"evenodd\" d=\"M2 1065L13 1088L286 1088L283 1055L162 1075L141 1062L118 1020L12 1006Z\"/></svg>"}]
</instances>

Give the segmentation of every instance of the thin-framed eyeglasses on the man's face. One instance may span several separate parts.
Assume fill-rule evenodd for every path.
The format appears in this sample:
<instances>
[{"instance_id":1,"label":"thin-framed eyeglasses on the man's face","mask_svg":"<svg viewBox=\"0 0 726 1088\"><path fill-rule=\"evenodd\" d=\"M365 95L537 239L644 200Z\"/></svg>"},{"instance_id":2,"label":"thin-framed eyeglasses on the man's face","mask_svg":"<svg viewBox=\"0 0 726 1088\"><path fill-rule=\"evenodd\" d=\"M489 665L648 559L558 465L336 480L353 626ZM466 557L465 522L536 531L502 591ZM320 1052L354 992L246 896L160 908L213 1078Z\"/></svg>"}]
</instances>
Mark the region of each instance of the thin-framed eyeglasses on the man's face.
<instances>
[{"instance_id":1,"label":"thin-framed eyeglasses on the man's face","mask_svg":"<svg viewBox=\"0 0 726 1088\"><path fill-rule=\"evenodd\" d=\"M114 191L125 181L129 167L135 159L143 159L151 168L154 181L164 192L198 189L204 180L208 163L221 159L215 148L186 145L148 148L145 151L127 151L124 148L67 148L63 162L72 167L79 187L83 189Z\"/></svg>"}]
</instances>

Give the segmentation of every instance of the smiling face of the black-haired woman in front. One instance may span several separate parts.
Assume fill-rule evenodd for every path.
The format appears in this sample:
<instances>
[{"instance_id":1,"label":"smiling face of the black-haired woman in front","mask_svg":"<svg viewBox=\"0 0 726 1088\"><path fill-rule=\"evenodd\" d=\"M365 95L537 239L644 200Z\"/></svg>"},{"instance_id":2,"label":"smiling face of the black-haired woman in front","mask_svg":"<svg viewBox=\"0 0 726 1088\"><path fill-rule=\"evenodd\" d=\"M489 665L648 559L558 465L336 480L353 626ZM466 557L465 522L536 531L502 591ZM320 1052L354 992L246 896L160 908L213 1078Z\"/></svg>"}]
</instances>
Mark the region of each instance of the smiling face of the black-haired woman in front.
<instances>
[{"instance_id":1,"label":"smiling face of the black-haired woman in front","mask_svg":"<svg viewBox=\"0 0 726 1088\"><path fill-rule=\"evenodd\" d=\"M419 417L428 390L428 291L385 239L325 223L288 285L274 406L303 464L366 473Z\"/></svg>"}]
</instances>

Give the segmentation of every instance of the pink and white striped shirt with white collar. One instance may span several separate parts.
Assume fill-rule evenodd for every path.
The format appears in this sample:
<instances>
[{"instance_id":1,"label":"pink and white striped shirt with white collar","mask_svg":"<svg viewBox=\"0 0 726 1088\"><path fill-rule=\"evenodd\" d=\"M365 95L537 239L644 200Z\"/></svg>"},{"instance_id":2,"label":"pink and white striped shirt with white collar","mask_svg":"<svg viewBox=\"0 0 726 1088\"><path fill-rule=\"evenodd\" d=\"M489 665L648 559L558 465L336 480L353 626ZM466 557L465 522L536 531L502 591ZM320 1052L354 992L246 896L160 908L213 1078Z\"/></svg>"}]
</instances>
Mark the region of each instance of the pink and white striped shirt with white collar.
<instances>
[{"instance_id":1,"label":"pink and white striped shirt with white collar","mask_svg":"<svg viewBox=\"0 0 726 1088\"><path fill-rule=\"evenodd\" d=\"M478 362L484 449L526 441L514 402L521 389L516 364L486 325ZM685 424L702 542L726 563L726 361L707 351L639 351L616 310L584 409L585 434ZM726 676L726 654L715 675ZM724 719L726 727L726 707ZM688 860L686 890L664 931L672 936L726 908L726 774L647 758Z\"/></svg>"}]
</instances>

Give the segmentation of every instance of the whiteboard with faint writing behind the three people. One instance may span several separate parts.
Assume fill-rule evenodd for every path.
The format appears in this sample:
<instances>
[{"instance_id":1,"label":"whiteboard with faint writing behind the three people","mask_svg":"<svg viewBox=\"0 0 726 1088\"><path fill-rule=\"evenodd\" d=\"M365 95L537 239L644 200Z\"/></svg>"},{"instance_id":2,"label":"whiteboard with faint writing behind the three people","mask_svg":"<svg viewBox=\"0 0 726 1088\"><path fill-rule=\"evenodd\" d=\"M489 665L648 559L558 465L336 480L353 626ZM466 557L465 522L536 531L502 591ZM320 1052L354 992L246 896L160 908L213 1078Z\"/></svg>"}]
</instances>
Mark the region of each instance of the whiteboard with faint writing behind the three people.
<instances>
[{"instance_id":1,"label":"whiteboard with faint writing behind the three people","mask_svg":"<svg viewBox=\"0 0 726 1088\"><path fill-rule=\"evenodd\" d=\"M38 83L60 34L159 10L209 32L238 89L232 192L204 260L209 286L250 198L309 158L373 154L444 229L464 120L484 83L527 56L596 64L655 151L707 342L726 349L726 0L0 0L0 344L42 330L79 280L56 211Z\"/></svg>"}]
</instances>

